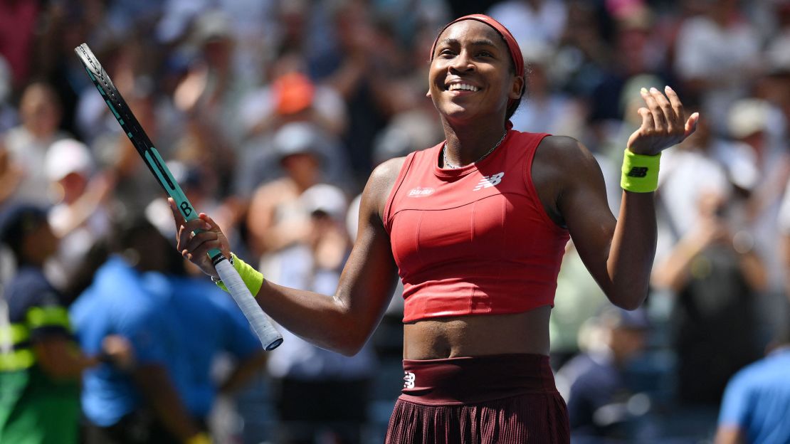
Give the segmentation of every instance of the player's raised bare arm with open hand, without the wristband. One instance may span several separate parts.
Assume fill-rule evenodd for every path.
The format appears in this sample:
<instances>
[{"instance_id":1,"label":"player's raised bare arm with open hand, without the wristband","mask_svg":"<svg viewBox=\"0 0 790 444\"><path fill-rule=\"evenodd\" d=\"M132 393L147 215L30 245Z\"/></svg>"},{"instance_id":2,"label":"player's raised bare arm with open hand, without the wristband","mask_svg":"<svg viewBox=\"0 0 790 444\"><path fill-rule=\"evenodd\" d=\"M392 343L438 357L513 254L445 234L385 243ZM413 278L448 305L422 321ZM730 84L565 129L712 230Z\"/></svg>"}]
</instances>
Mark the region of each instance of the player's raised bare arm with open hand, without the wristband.
<instances>
[{"instance_id":1,"label":"player's raised bare arm with open hand, without the wristband","mask_svg":"<svg viewBox=\"0 0 790 444\"><path fill-rule=\"evenodd\" d=\"M683 103L671 88L665 88L664 93L643 88L641 96L645 107L638 110L641 126L628 140L631 152L657 155L694 133L699 115L685 119ZM618 307L639 307L647 295L656 253L653 193L624 190L615 220L607 205L600 167L583 145L569 137L547 137L536 162L547 166L547 173L537 179L552 184L544 193L555 196L554 201L547 201L542 194L541 200L550 213L556 205L592 277Z\"/></svg>"}]
</instances>

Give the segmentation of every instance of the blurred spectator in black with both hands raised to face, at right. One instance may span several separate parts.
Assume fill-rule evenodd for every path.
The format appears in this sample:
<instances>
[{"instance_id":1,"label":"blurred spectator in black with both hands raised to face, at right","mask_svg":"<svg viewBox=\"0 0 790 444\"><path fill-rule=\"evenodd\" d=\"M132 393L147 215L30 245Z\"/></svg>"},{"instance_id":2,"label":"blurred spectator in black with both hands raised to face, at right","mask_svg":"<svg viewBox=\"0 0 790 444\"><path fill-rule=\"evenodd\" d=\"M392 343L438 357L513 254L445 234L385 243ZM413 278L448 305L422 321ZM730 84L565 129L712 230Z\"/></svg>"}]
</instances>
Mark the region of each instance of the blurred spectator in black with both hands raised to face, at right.
<instances>
[{"instance_id":1,"label":"blurred spectator in black with both hands raised to face, at right","mask_svg":"<svg viewBox=\"0 0 790 444\"><path fill-rule=\"evenodd\" d=\"M745 231L734 232L728 201L705 193L698 222L667 257L652 282L677 299L672 313L677 396L693 408L716 408L728 378L758 357L756 297L766 270Z\"/></svg>"}]
</instances>

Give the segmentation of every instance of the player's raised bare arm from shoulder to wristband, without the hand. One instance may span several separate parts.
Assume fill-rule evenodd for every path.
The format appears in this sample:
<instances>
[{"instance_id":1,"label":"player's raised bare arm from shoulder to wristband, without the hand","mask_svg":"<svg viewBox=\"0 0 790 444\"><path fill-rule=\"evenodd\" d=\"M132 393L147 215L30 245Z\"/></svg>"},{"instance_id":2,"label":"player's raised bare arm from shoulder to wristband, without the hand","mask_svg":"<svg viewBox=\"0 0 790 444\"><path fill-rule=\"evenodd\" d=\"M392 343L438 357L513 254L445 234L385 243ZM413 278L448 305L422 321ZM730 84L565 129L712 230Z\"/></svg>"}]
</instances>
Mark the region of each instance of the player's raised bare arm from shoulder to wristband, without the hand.
<instances>
[{"instance_id":1,"label":"player's raised bare arm from shoulder to wristband, without the hand","mask_svg":"<svg viewBox=\"0 0 790 444\"><path fill-rule=\"evenodd\" d=\"M639 307L647 294L656 251L653 193L623 191L615 220L600 167L579 142L570 137L547 137L536 162L550 166L548 171L533 172L536 182L550 176L559 179L555 181L557 211L592 277L615 305L631 310Z\"/></svg>"}]
</instances>

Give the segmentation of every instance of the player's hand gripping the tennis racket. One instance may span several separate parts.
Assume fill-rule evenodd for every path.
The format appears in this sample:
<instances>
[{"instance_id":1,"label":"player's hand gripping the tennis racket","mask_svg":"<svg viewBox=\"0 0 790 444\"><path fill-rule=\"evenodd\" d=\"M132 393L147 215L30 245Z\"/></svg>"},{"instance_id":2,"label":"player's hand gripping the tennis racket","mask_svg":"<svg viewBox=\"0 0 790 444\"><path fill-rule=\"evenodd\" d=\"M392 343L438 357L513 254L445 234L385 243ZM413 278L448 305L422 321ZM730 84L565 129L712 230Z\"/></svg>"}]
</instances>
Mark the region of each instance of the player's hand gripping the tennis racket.
<instances>
[{"instance_id":1,"label":"player's hand gripping the tennis racket","mask_svg":"<svg viewBox=\"0 0 790 444\"><path fill-rule=\"evenodd\" d=\"M200 213L196 219L186 221L172 198L167 198L167 203L175 220L175 237L178 242L176 248L179 253L197 265L203 273L218 278L219 275L209 258L209 250L220 250L225 258L228 260L231 258L230 243L220 230L220 226L205 213Z\"/></svg>"}]
</instances>

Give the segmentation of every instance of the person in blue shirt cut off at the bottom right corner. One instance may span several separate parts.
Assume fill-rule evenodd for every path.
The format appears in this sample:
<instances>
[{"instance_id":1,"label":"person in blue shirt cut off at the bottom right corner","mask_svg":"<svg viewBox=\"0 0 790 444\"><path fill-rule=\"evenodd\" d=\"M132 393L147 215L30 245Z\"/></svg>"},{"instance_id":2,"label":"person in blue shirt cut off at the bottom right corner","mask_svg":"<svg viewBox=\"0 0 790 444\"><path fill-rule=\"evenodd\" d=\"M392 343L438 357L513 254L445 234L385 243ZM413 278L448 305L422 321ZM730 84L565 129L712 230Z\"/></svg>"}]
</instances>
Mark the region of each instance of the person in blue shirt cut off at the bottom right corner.
<instances>
[{"instance_id":1,"label":"person in blue shirt cut off at the bottom right corner","mask_svg":"<svg viewBox=\"0 0 790 444\"><path fill-rule=\"evenodd\" d=\"M736 373L721 402L716 444L790 442L790 322L768 356Z\"/></svg>"}]
</instances>

